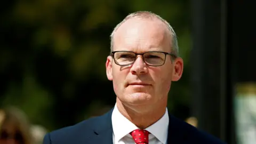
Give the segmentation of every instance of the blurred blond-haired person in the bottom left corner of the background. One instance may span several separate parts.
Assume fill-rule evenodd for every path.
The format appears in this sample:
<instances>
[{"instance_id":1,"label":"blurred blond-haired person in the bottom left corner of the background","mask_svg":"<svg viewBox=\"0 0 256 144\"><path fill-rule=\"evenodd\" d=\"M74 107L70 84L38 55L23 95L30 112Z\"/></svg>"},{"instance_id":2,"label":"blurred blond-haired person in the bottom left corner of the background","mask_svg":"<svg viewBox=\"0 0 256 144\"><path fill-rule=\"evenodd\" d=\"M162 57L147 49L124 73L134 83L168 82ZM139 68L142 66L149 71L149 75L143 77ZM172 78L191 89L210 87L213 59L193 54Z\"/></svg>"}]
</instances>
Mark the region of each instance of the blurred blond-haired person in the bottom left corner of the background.
<instances>
[{"instance_id":1,"label":"blurred blond-haired person in the bottom left corner of the background","mask_svg":"<svg viewBox=\"0 0 256 144\"><path fill-rule=\"evenodd\" d=\"M0 127L1 144L33 144L30 125L26 115L18 108L3 109L4 117Z\"/></svg>"}]
</instances>

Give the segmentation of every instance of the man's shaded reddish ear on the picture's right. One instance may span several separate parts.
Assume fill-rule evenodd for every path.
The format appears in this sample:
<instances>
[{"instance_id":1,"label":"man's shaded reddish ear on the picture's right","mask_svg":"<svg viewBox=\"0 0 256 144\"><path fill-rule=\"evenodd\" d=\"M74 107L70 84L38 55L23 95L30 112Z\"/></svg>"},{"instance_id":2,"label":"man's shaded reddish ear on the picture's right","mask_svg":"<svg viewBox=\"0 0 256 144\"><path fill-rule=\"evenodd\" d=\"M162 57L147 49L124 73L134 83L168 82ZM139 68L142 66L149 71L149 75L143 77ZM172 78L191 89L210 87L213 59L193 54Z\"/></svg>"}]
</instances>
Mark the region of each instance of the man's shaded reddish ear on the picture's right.
<instances>
[{"instance_id":1,"label":"man's shaded reddish ear on the picture's right","mask_svg":"<svg viewBox=\"0 0 256 144\"><path fill-rule=\"evenodd\" d=\"M183 73L183 60L178 57L173 61L172 81L179 81Z\"/></svg>"}]
</instances>

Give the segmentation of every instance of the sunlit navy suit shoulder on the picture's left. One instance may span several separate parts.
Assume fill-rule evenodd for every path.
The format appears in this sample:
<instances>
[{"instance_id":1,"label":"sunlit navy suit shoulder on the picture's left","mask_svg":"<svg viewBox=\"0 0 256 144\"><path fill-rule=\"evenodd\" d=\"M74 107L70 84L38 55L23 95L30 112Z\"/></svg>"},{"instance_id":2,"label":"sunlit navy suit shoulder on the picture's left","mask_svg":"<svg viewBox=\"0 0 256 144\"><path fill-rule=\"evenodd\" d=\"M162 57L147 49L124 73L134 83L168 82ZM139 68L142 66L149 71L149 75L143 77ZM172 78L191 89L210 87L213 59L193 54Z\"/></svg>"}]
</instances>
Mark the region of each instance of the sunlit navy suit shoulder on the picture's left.
<instances>
[{"instance_id":1,"label":"sunlit navy suit shoulder on the picture's left","mask_svg":"<svg viewBox=\"0 0 256 144\"><path fill-rule=\"evenodd\" d=\"M47 133L44 137L43 144L65 144L74 141L79 143L79 141L91 137L94 134L94 130L99 129L98 127L106 127L109 122L103 121L103 119L106 120L109 114L110 113L106 113L102 116L89 118L75 125L63 127Z\"/></svg>"}]
</instances>

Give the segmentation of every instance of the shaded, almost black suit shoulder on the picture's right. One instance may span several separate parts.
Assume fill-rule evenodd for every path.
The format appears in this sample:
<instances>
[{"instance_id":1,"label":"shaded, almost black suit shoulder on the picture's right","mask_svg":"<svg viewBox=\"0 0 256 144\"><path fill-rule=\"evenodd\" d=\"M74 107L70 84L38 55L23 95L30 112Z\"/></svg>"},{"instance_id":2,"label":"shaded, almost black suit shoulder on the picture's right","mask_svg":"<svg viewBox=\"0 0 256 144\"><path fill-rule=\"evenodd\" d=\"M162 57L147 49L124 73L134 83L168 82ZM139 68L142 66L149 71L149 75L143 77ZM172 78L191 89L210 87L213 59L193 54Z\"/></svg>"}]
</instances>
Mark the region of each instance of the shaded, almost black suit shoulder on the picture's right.
<instances>
[{"instance_id":1,"label":"shaded, almost black suit shoulder on the picture's right","mask_svg":"<svg viewBox=\"0 0 256 144\"><path fill-rule=\"evenodd\" d=\"M181 135L183 135L183 140L188 143L208 143L208 144L224 144L219 138L214 137L213 135L206 133L202 130L197 129L195 126L190 125L178 118L171 116L174 126L174 129L179 129ZM176 126L176 127L175 127Z\"/></svg>"}]
</instances>

